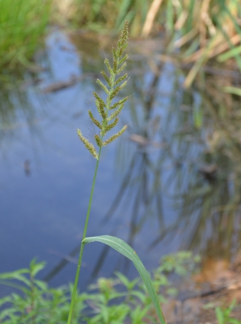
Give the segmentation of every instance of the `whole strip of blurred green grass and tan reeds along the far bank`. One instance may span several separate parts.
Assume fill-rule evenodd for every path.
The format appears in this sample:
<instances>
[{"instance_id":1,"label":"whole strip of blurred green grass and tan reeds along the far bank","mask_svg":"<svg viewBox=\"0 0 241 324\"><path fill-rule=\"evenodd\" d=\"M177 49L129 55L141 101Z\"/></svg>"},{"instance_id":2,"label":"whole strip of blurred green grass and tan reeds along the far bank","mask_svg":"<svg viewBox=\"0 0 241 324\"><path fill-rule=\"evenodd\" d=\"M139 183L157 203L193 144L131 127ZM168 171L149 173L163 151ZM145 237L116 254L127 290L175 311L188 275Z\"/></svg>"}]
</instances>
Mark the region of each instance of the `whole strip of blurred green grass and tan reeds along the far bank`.
<instances>
[{"instance_id":1,"label":"whole strip of blurred green grass and tan reeds along the far bank","mask_svg":"<svg viewBox=\"0 0 241 324\"><path fill-rule=\"evenodd\" d=\"M131 37L162 33L167 43L164 52L175 54L190 68L186 87L213 58L218 62L234 59L232 66L241 70L240 0L66 0L61 4L13 0L11 6L0 0L0 5L0 67L30 65L50 23L52 8L52 21L53 17L55 23L71 21L74 28L113 35L128 19Z\"/></svg>"}]
</instances>

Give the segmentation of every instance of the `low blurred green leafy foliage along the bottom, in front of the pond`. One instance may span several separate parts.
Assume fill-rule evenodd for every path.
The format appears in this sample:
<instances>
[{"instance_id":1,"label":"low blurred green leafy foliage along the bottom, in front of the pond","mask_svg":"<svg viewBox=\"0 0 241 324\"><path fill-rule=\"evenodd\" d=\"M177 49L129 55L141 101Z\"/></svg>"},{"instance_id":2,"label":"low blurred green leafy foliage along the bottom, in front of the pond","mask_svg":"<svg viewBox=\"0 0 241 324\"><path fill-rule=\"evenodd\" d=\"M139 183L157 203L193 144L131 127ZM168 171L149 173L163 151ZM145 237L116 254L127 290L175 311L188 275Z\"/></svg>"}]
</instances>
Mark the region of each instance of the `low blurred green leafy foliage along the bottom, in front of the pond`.
<instances>
[{"instance_id":1,"label":"low blurred green leafy foliage along the bottom, in front of the pond","mask_svg":"<svg viewBox=\"0 0 241 324\"><path fill-rule=\"evenodd\" d=\"M182 252L183 253L183 252ZM189 254L187 252L187 254ZM171 259L179 259L176 264L189 269L193 264L193 255L185 261L179 254L164 257L161 265L153 273L152 283L156 291L162 289L168 293L172 284L168 279L168 269L176 272L176 267L169 267ZM173 263L173 262L171 262ZM13 286L20 291L0 299L0 323L3 324L63 324L67 322L72 285L50 288L44 281L36 279L36 275L45 267L45 262L30 263L29 269L0 274L0 284ZM163 270L164 269L164 270ZM179 271L179 270L177 270ZM184 272L182 272L184 274ZM161 279L162 276L162 279ZM158 282L157 282L158 281ZM140 278L129 280L126 276L116 273L115 278L99 278L92 284L90 292L76 295L76 303L72 314L72 323L86 324L141 324L149 320L158 323L147 289ZM159 294L164 302L164 296Z\"/></svg>"}]
</instances>

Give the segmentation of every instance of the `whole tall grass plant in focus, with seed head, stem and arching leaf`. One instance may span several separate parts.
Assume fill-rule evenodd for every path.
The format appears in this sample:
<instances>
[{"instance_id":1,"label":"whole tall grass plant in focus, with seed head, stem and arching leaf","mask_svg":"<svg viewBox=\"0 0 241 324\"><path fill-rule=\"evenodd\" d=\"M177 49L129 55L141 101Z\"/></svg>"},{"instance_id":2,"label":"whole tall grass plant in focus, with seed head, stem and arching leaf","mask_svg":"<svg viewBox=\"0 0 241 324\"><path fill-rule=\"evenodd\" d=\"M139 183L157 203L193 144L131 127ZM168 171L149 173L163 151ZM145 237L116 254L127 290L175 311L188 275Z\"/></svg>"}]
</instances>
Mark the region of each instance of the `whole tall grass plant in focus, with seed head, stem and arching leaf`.
<instances>
[{"instance_id":1,"label":"whole tall grass plant in focus, with seed head, stem and arching leaf","mask_svg":"<svg viewBox=\"0 0 241 324\"><path fill-rule=\"evenodd\" d=\"M128 259L133 261L133 264L135 265L136 269L138 269L138 272L140 273L140 276L142 277L142 280L145 283L147 291L150 294L150 298L152 299L152 303L155 306L160 323L162 324L165 323L164 316L162 315L162 310L159 306L159 300L157 298L157 294L150 280L150 276L147 273L144 265L140 261L136 252L123 240L120 240L119 238L113 236L102 235L102 236L96 236L94 238L86 238L86 231L89 223L89 214L91 210L91 203L94 194L94 186L96 182L96 174L99 167L99 160L101 157L101 149L103 146L108 145L109 143L113 142L113 140L116 140L118 137L120 137L120 135L122 135L127 128L127 125L124 125L123 128L118 131L118 133L116 133L115 135L111 135L107 140L104 139L106 133L108 133L110 130L115 128L116 125L118 124L119 121L118 115L120 114L120 111L122 111L125 101L128 100L128 97L125 97L125 99L121 99L113 103L113 99L116 98L118 93L127 84L127 80L126 80L126 78L128 77L127 74L123 74L122 76L118 77L118 74L120 74L120 72L123 72L123 69L125 69L126 66L125 61L128 59L128 55L124 55L123 52L125 48L127 48L127 46L128 46L128 21L125 21L123 31L121 32L120 38L118 39L117 48L112 49L112 54L113 54L112 66L107 58L106 60L104 60L109 75L107 75L106 72L104 71L102 71L101 74L103 76L103 79L106 81L106 85L103 84L99 79L96 80L99 86L101 86L101 88L106 92L106 96L107 96L106 101L104 101L98 94L96 94L96 92L94 92L94 97L96 99L96 107L97 107L97 111L99 112L99 115L101 116L101 121L97 120L94 117L94 114L89 110L89 118L91 119L91 122L94 123L94 125L96 125L99 128L99 134L94 135L95 144L99 148L99 152L97 152L96 148L92 143L89 142L89 140L84 138L81 130L77 130L79 139L82 140L82 143L84 143L86 149L89 150L89 152L91 152L91 155L93 155L93 157L96 158L97 161L96 161L94 180L93 180L90 199L89 199L89 207L86 214L86 221L84 225L82 244L79 252L77 272L74 280L74 289L72 294L72 302L69 310L68 324L72 323L72 314L74 312L75 296L77 294L77 284L79 281L79 270L82 264L84 245L90 242L102 242L106 245L109 245L110 247L113 247L113 249L117 250L121 254L125 255L125 257L128 257Z\"/></svg>"}]
</instances>

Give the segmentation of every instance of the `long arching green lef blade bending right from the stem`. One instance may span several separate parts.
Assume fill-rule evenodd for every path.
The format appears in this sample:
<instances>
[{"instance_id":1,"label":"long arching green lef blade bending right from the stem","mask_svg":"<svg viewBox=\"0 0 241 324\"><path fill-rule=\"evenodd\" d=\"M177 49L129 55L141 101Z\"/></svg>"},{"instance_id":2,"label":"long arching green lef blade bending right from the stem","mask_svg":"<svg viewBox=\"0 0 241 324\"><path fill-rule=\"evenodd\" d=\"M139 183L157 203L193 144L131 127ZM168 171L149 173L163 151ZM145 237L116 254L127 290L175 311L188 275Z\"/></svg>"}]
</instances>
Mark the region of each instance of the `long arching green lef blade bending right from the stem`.
<instances>
[{"instance_id":1,"label":"long arching green lef blade bending right from the stem","mask_svg":"<svg viewBox=\"0 0 241 324\"><path fill-rule=\"evenodd\" d=\"M154 287L152 286L152 281L150 280L150 276L147 273L147 270L145 269L144 265L140 261L140 258L133 250L133 248L130 247L130 245L125 243L123 240L120 240L119 238L110 235L95 236L93 238L85 238L83 240L84 244L91 243L91 242L101 242L110 247L113 247L113 249L120 252L125 257L128 257L128 259L130 259L133 262L140 276L142 277L142 280L144 281L147 291L150 294L150 298L152 298L152 303L155 306L160 323L165 324L166 322L162 314L162 309L159 306L158 297Z\"/></svg>"}]
</instances>

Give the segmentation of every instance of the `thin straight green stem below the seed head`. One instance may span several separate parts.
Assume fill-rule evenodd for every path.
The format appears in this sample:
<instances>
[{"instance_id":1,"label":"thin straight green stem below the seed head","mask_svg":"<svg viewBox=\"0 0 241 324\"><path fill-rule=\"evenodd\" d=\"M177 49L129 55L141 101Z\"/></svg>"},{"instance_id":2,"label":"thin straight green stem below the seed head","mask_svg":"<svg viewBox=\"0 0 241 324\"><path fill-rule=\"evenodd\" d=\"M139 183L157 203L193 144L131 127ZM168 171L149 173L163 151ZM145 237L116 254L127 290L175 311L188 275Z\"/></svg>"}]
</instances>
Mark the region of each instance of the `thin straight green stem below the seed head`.
<instances>
[{"instance_id":1,"label":"thin straight green stem below the seed head","mask_svg":"<svg viewBox=\"0 0 241 324\"><path fill-rule=\"evenodd\" d=\"M78 260L78 266L77 266L77 271L76 271L76 275L75 275L75 279L74 279L74 289L73 289L73 293L72 293L72 299L71 299L71 304L70 304L70 309L69 309L69 317L68 317L68 323L67 324L71 324L72 321L72 313L73 313L73 309L74 309L74 301L75 301L75 296L76 296L76 291L77 291L77 286L78 286L78 281L79 281L79 270L81 268L82 265L82 255L84 252L84 244L83 244L83 240L86 238L86 231L87 231L87 227L88 227L88 223L89 223L89 214L91 211L91 203L92 203L92 199L93 199L93 194L94 194L94 186L96 184L96 175L97 175L97 170L99 167L99 159L101 157L101 147L99 149L99 155L98 155L98 160L96 162L96 169L94 171L94 179L93 179L93 183L92 183L92 188L91 188L91 195L89 198L89 206L88 206L88 211L86 214L86 220L85 220L85 224L84 224L84 233L83 233L83 237L82 237L82 245L80 247L80 252L79 252L79 260Z\"/></svg>"}]
</instances>

